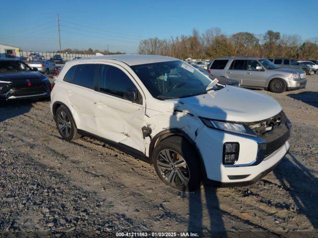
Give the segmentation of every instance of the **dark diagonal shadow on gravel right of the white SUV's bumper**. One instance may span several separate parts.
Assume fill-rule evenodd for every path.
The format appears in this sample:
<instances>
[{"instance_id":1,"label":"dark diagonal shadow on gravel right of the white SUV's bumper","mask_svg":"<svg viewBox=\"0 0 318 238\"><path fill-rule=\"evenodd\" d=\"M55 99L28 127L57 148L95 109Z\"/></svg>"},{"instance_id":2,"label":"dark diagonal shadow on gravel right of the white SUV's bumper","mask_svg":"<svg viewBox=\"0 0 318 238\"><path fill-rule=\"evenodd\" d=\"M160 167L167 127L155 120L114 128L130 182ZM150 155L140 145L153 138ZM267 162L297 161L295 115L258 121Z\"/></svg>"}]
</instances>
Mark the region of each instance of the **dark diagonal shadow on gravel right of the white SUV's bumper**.
<instances>
[{"instance_id":1,"label":"dark diagonal shadow on gravel right of the white SUV's bumper","mask_svg":"<svg viewBox=\"0 0 318 238\"><path fill-rule=\"evenodd\" d=\"M316 178L290 152L273 171L295 204L318 229L318 178ZM288 158L290 157L290 158Z\"/></svg>"}]
</instances>

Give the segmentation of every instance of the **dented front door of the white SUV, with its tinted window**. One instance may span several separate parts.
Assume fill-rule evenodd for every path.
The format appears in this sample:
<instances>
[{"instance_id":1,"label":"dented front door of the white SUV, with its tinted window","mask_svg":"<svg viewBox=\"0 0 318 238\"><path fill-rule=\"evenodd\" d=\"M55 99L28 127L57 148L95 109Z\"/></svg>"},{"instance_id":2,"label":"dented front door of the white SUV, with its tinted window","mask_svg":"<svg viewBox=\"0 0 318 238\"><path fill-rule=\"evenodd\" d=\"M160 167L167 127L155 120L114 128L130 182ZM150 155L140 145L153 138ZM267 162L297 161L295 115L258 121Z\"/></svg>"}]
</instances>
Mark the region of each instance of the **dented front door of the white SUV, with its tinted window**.
<instances>
[{"instance_id":1,"label":"dented front door of the white SUV, with its tinted window","mask_svg":"<svg viewBox=\"0 0 318 238\"><path fill-rule=\"evenodd\" d=\"M128 89L136 89L138 100L124 98ZM141 90L124 68L100 64L99 83L94 96L97 135L145 152L142 127L145 125L145 100Z\"/></svg>"}]
</instances>

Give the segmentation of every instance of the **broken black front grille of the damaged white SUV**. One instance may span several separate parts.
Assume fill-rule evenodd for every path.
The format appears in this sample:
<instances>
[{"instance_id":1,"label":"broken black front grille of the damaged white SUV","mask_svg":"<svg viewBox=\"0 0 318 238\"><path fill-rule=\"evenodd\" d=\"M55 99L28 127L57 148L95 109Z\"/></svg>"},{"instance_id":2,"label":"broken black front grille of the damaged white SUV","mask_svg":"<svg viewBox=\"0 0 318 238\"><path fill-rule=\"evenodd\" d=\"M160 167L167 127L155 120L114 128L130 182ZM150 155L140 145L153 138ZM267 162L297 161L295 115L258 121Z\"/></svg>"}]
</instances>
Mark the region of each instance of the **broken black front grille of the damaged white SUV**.
<instances>
[{"instance_id":1,"label":"broken black front grille of the damaged white SUV","mask_svg":"<svg viewBox=\"0 0 318 238\"><path fill-rule=\"evenodd\" d=\"M282 147L290 136L291 124L283 111L272 118L249 123L249 126L265 141L265 157Z\"/></svg>"}]
</instances>

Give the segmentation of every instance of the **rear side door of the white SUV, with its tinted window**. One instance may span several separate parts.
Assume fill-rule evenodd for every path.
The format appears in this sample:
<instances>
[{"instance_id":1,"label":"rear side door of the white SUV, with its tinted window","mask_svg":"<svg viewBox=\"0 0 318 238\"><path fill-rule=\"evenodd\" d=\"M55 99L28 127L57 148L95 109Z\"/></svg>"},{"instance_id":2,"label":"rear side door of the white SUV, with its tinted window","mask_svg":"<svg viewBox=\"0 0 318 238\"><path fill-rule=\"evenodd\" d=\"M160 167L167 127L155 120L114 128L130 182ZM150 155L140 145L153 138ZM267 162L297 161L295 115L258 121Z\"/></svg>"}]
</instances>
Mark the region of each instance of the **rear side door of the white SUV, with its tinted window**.
<instances>
[{"instance_id":1,"label":"rear side door of the white SUV, with its tinted window","mask_svg":"<svg viewBox=\"0 0 318 238\"><path fill-rule=\"evenodd\" d=\"M90 133L96 133L97 127L94 119L94 79L98 73L98 64L82 63L70 68L70 75L74 71L71 84L68 86L67 94L72 110L79 118L77 127ZM76 68L75 68L76 67ZM66 76L68 75L66 74ZM71 79L64 79L65 81Z\"/></svg>"}]
</instances>

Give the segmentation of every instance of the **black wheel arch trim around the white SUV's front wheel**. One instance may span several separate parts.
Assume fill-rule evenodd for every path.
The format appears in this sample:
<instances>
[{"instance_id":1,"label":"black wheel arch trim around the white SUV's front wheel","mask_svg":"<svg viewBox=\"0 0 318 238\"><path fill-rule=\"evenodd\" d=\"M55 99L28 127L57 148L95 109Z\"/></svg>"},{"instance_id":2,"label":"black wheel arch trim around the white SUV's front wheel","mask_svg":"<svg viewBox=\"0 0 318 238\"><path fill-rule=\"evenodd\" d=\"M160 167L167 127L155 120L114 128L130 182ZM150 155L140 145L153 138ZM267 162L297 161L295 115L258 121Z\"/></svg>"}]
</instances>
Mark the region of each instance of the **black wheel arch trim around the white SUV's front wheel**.
<instances>
[{"instance_id":1,"label":"black wheel arch trim around the white SUV's front wheel","mask_svg":"<svg viewBox=\"0 0 318 238\"><path fill-rule=\"evenodd\" d=\"M203 162L203 159L201 157L201 153L198 149L198 147L196 146L195 142L191 139L191 137L185 133L183 130L179 129L179 128L170 128L170 129L166 129L166 130L163 130L163 131L160 131L158 134L156 134L151 142L150 142L150 146L149 146L149 159L150 159L150 162L153 163L153 152L154 152L154 149L156 147L156 145L170 137L170 136L180 136L180 137L183 137L185 138L193 147L193 149L195 150L195 153L197 154L198 158L199 158L199 164L200 164L200 169L201 169L201 173L202 173L202 177L203 178L207 178L207 173L206 173L206 170L205 170L205 165L204 165L204 162Z\"/></svg>"}]
</instances>

